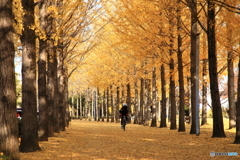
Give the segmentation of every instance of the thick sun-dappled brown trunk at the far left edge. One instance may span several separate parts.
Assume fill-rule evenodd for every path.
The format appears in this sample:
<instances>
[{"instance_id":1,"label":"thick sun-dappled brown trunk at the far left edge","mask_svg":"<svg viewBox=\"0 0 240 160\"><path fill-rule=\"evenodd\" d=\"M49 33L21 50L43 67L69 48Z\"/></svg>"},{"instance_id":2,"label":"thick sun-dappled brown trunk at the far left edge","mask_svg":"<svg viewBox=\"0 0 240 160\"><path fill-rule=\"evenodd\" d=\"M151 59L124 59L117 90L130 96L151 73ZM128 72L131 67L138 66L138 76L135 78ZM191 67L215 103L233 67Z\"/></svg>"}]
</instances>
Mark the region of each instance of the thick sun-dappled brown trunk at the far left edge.
<instances>
[{"instance_id":1,"label":"thick sun-dappled brown trunk at the far left edge","mask_svg":"<svg viewBox=\"0 0 240 160\"><path fill-rule=\"evenodd\" d=\"M2 0L0 8L0 152L19 160L12 0Z\"/></svg>"}]
</instances>

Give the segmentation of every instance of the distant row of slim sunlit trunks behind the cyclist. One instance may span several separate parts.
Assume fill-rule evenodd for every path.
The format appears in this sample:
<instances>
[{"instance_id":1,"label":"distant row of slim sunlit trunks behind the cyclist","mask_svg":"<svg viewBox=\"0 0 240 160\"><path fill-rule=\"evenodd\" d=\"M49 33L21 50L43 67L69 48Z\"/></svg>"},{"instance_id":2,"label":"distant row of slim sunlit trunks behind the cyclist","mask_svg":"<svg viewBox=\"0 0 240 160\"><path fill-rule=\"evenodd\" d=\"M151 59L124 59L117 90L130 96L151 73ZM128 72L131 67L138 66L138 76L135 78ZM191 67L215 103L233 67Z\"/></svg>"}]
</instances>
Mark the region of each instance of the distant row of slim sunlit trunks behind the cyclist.
<instances>
[{"instance_id":1,"label":"distant row of slim sunlit trunks behind the cyclist","mask_svg":"<svg viewBox=\"0 0 240 160\"><path fill-rule=\"evenodd\" d=\"M132 89L131 85L128 84L121 87L110 86L103 93L100 93L99 89L88 89L84 93L75 93L69 99L70 115L77 119L85 118L117 123L119 122L119 110L122 104L127 102L130 111L129 116L134 118L133 122L129 119L129 123L149 126L149 121L153 119L151 120L151 126L156 127L157 121L160 121L161 118L160 127L167 127L166 118L168 117L170 121L169 116L171 115L171 110L168 108L169 99L160 102L156 97L154 88L151 87L153 84L150 83L154 83L154 81L151 82L150 79L142 80L141 84L136 83ZM134 97L131 97L131 90L134 90ZM155 105L152 104L152 98L155 100ZM188 108L185 111L187 112ZM183 112L183 114L186 112ZM204 116L204 120L206 120L206 116ZM185 128L179 127L180 130L185 131Z\"/></svg>"}]
</instances>

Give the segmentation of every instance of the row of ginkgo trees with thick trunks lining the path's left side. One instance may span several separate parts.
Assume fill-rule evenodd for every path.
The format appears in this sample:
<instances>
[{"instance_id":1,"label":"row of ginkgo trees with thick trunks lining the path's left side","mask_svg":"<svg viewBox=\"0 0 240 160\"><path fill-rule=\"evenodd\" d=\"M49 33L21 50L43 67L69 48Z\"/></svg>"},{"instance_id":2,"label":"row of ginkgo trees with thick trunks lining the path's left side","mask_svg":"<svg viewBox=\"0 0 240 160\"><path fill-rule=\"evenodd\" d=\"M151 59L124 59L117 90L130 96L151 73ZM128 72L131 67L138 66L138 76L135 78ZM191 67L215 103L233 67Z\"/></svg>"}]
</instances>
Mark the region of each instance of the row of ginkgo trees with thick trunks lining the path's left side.
<instances>
[{"instance_id":1,"label":"row of ginkgo trees with thick trunks lining the path's left side","mask_svg":"<svg viewBox=\"0 0 240 160\"><path fill-rule=\"evenodd\" d=\"M101 14L97 4L94 0L0 2L0 153L8 159L20 159L19 150L40 150L39 141L68 126L68 78L98 43L91 29ZM22 58L20 142L15 56Z\"/></svg>"}]
</instances>

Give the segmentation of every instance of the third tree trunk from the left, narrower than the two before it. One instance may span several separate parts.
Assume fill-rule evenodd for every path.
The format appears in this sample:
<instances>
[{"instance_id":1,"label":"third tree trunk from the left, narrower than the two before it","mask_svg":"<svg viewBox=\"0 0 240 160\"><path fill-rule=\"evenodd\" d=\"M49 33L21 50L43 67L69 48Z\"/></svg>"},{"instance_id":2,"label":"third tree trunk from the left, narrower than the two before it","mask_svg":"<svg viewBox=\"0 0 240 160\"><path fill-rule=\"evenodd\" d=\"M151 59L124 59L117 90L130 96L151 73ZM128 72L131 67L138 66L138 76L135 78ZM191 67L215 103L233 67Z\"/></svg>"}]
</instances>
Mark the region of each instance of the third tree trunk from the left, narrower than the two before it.
<instances>
[{"instance_id":1,"label":"third tree trunk from the left, narrower than the two before it","mask_svg":"<svg viewBox=\"0 0 240 160\"><path fill-rule=\"evenodd\" d=\"M46 3L40 3L40 26L46 34L47 15ZM38 103L39 103L39 128L38 137L40 141L48 141L48 99L47 99L47 41L39 39L39 60L38 60Z\"/></svg>"}]
</instances>

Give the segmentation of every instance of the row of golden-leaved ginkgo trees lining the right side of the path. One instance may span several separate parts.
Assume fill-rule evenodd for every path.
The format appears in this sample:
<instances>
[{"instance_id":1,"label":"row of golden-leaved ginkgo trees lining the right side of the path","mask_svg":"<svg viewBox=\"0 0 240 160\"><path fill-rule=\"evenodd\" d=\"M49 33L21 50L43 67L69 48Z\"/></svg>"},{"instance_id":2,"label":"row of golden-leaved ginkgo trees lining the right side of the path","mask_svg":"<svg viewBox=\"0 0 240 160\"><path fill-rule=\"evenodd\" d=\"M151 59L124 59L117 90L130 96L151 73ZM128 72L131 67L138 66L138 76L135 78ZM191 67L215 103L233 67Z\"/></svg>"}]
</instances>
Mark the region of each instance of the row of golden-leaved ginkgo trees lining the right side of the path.
<instances>
[{"instance_id":1,"label":"row of golden-leaved ginkgo trees lining the right side of the path","mask_svg":"<svg viewBox=\"0 0 240 160\"><path fill-rule=\"evenodd\" d=\"M138 83L141 86L150 79L153 83L155 80L151 76L155 74L150 73L157 70L156 75L160 80L157 93L163 110L166 98L170 100L171 129L176 129L178 107L179 130L185 130L183 113L186 95L189 93L192 115L190 133L200 133L198 108L201 102L203 112L206 112L207 89L211 93L210 106L213 112L212 137L226 136L221 95L228 96L229 128L236 127L236 108L240 108L235 106L239 92L234 89L239 88L236 86L238 77L235 74L238 68L236 64L239 63L240 23L237 1L120 0L102 1L102 5L105 14L97 24L109 23L101 30L102 43L85 61L88 65L79 70L86 71L81 76L82 82L86 81L89 84L87 86L98 87L103 95L110 86L118 88ZM219 89L219 82L224 77L228 79L225 91ZM71 79L70 83L78 84ZM151 96L155 97L154 85L152 89ZM133 95L132 89L131 97L137 98ZM139 112L142 113L141 105L146 101L141 102L141 94L139 97ZM156 100L151 99L153 108L156 108ZM176 100L179 100L178 105ZM239 143L239 122L234 143Z\"/></svg>"}]
</instances>

